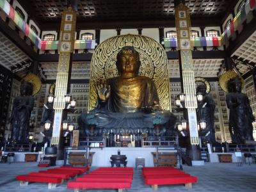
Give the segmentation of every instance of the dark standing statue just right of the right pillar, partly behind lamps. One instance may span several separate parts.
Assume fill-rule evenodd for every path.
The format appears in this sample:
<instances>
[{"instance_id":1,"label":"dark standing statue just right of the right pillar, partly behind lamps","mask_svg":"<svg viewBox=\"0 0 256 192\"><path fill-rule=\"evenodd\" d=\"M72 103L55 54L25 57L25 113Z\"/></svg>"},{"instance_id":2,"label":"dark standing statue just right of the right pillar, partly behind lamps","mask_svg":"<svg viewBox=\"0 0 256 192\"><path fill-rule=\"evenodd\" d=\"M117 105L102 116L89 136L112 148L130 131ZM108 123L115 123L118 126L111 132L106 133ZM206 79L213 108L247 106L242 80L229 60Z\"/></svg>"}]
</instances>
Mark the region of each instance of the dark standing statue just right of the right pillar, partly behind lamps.
<instances>
[{"instance_id":1,"label":"dark standing statue just right of the right pillar, partly behind lamps","mask_svg":"<svg viewBox=\"0 0 256 192\"><path fill-rule=\"evenodd\" d=\"M201 129L200 134L207 143L215 143L215 128L214 128L214 111L215 103L209 93L206 93L205 84L199 84L196 88L196 93L202 93L203 100L196 109L196 116L198 122L205 120L206 127L204 130Z\"/></svg>"}]
</instances>

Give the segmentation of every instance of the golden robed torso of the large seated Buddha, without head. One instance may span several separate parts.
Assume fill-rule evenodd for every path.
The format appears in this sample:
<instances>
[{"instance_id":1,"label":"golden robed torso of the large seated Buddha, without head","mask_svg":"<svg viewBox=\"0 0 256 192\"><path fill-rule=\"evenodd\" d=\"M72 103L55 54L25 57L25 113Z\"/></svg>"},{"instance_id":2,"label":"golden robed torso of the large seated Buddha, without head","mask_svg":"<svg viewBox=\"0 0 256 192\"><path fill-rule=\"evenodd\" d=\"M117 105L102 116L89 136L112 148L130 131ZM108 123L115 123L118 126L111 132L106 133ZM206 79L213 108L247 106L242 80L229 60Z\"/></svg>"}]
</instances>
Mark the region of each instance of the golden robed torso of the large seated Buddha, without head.
<instances>
[{"instance_id":1,"label":"golden robed torso of the large seated Buddha, without head","mask_svg":"<svg viewBox=\"0 0 256 192\"><path fill-rule=\"evenodd\" d=\"M148 77L136 76L130 79L114 77L109 79L111 86L106 109L110 112L134 113L142 107L159 103L154 81Z\"/></svg>"}]
</instances>

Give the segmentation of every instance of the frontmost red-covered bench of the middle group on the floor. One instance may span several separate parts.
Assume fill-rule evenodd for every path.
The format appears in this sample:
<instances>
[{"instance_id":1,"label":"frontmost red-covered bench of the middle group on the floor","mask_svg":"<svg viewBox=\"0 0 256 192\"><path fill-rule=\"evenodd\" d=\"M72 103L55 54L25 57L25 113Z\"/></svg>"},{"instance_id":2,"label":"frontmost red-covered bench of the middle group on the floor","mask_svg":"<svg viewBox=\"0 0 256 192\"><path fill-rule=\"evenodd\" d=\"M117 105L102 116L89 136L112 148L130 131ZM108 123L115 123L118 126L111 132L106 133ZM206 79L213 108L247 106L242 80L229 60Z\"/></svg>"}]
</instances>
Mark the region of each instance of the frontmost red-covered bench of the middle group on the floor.
<instances>
[{"instance_id":1,"label":"frontmost red-covered bench of the middle group on the floor","mask_svg":"<svg viewBox=\"0 0 256 192\"><path fill-rule=\"evenodd\" d=\"M130 182L76 182L70 181L67 188L71 189L130 189Z\"/></svg>"}]
</instances>

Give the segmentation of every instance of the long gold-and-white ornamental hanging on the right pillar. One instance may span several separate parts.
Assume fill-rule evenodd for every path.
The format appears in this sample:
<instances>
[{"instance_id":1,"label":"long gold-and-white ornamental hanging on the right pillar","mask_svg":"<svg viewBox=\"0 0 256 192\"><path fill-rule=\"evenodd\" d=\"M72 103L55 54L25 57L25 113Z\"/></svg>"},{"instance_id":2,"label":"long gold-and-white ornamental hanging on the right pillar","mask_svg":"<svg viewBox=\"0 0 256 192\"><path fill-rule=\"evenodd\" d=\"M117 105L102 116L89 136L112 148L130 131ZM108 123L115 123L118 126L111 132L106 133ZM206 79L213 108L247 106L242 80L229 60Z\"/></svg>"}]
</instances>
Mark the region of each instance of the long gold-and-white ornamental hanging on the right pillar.
<instances>
[{"instance_id":1,"label":"long gold-and-white ornamental hanging on the right pillar","mask_svg":"<svg viewBox=\"0 0 256 192\"><path fill-rule=\"evenodd\" d=\"M190 42L191 22L189 8L182 1L175 7L175 25L177 29L177 48L180 52L180 62L182 65L184 93L186 94L185 105L188 109L190 141L191 145L198 145L199 139L196 121L197 102Z\"/></svg>"}]
</instances>

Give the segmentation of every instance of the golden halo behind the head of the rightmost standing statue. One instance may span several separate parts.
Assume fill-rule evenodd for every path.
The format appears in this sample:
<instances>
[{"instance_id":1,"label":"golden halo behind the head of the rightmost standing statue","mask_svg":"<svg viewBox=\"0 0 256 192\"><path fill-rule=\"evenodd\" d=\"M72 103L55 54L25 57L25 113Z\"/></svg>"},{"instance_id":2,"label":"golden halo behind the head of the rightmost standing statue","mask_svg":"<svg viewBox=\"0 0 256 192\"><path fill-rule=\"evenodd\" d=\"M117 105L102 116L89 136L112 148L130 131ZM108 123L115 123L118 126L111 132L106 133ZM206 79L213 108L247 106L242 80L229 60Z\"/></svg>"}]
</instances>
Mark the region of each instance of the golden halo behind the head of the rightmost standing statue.
<instances>
[{"instance_id":1,"label":"golden halo behind the head of the rightmost standing statue","mask_svg":"<svg viewBox=\"0 0 256 192\"><path fill-rule=\"evenodd\" d=\"M239 77L242 82L242 90L244 88L244 79L243 77L239 76L234 70L228 70L224 74L222 74L219 78L219 84L221 89L228 93L228 81L234 77Z\"/></svg>"}]
</instances>

